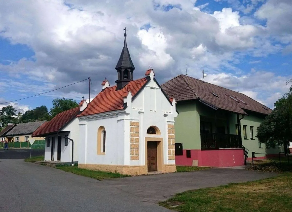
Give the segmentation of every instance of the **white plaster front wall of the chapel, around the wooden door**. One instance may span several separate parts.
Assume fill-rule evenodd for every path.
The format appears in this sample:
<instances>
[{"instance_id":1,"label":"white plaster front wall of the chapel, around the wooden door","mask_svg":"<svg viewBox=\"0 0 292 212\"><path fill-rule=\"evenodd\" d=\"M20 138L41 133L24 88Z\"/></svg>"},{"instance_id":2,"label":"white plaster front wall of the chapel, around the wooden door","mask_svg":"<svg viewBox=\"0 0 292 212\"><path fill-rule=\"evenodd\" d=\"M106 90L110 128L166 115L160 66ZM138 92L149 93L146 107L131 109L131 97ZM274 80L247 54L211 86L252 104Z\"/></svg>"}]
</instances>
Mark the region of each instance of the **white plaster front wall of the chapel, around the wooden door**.
<instances>
[{"instance_id":1,"label":"white plaster front wall of the chapel, around the wooden door","mask_svg":"<svg viewBox=\"0 0 292 212\"><path fill-rule=\"evenodd\" d=\"M131 104L130 119L131 121L139 120L140 126L139 165L145 165L147 159L145 154L141 154L145 152L145 137L163 138L164 164L175 164L175 160L168 160L167 124L174 124L174 117L177 115L175 104L172 105L168 101L156 82L151 79ZM150 126L158 127L161 135L147 134ZM130 161L130 164L137 165L135 161Z\"/></svg>"}]
</instances>

